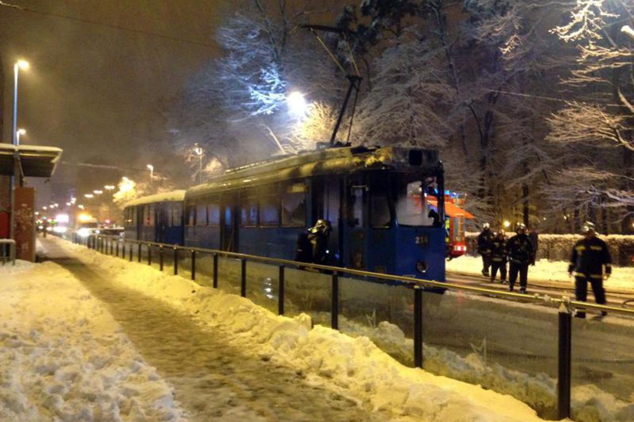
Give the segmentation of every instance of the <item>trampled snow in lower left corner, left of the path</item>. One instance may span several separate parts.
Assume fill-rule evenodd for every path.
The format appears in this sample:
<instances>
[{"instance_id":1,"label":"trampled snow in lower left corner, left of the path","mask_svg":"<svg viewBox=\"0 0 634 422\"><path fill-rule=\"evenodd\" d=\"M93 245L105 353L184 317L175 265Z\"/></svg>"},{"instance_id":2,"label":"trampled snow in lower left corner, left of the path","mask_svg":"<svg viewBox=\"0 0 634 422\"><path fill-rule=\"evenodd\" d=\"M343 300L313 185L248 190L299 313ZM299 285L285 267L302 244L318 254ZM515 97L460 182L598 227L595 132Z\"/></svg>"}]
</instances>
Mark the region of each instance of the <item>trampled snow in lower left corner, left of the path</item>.
<instances>
[{"instance_id":1,"label":"trampled snow in lower left corner, left of the path","mask_svg":"<svg viewBox=\"0 0 634 422\"><path fill-rule=\"evenodd\" d=\"M177 420L171 388L53 262L0 267L0 419Z\"/></svg>"}]
</instances>

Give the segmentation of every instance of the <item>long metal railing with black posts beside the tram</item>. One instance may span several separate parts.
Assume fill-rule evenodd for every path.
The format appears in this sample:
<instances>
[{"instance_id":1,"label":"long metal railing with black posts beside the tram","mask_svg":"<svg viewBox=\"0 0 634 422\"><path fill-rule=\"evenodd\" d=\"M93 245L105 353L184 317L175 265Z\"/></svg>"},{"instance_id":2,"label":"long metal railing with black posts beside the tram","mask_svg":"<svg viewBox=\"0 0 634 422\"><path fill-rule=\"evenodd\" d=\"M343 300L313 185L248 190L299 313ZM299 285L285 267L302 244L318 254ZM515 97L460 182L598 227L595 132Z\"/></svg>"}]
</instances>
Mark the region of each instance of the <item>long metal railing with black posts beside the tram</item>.
<instances>
[{"instance_id":1,"label":"long metal railing with black posts beside the tram","mask_svg":"<svg viewBox=\"0 0 634 422\"><path fill-rule=\"evenodd\" d=\"M159 269L164 271L165 253L173 254L173 274L179 274L179 252L185 251L190 255L190 274L191 279L197 278L197 254L206 253L212 255L213 264L211 272L211 286L218 288L218 259L225 257L228 259L240 260L240 295L247 297L247 262L260 262L278 266L278 314L283 315L285 312L285 269L288 267L301 271L320 272L321 274L330 275L330 325L333 329L339 329L339 277L342 274L350 276L360 276L367 283L378 283L384 285L400 286L401 288L413 291L413 363L416 367L423 367L423 300L424 291L441 292L444 290L464 291L468 293L476 293L478 295L488 295L489 297L500 298L504 300L521 300L533 304L547 305L556 307L559 314L558 324L558 347L557 347L557 419L569 418L571 416L571 345L573 336L572 316L576 309L594 309L598 311L612 312L623 316L634 317L634 310L623 309L609 305L591 304L588 302L578 302L570 300L568 297L553 298L548 295L526 295L521 293L513 293L510 291L500 291L488 288L456 285L452 283L441 283L438 281L427 281L422 279L411 278L407 276L396 276L392 274L382 274L377 272L363 271L358 269L333 267L332 265L310 264L306 262L297 262L286 259L276 259L270 257L262 257L258 255L247 255L245 253L227 252L223 250L212 250L205 248L197 248L191 246L169 245L152 241L129 240L120 238L119 236L107 235L91 235L86 238L80 238L77 234L73 234L72 241L87 246L98 252L127 259L133 261L133 255L136 250L137 262L141 262L141 248L143 245L147 248L147 264L152 265L153 255L152 247L159 249Z\"/></svg>"}]
</instances>

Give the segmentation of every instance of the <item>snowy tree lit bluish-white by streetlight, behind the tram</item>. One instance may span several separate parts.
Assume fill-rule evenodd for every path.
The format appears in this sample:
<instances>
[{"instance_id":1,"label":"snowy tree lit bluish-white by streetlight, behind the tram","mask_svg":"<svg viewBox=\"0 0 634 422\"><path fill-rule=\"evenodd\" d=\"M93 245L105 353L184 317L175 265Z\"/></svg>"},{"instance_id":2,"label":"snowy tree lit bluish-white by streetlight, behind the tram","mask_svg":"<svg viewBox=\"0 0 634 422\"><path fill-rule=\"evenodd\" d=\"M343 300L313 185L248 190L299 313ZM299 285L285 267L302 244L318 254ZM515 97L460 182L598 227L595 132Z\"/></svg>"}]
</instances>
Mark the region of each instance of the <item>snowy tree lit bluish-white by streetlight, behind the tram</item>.
<instances>
[{"instance_id":1,"label":"snowy tree lit bluish-white by streetlight, behind the tram","mask_svg":"<svg viewBox=\"0 0 634 422\"><path fill-rule=\"evenodd\" d=\"M230 167L301 149L288 94L300 91L308 101L339 94L326 53L297 29L328 5L269 3L252 0L217 30L224 56L201 69L172 111L175 149L184 157L194 142Z\"/></svg>"}]
</instances>

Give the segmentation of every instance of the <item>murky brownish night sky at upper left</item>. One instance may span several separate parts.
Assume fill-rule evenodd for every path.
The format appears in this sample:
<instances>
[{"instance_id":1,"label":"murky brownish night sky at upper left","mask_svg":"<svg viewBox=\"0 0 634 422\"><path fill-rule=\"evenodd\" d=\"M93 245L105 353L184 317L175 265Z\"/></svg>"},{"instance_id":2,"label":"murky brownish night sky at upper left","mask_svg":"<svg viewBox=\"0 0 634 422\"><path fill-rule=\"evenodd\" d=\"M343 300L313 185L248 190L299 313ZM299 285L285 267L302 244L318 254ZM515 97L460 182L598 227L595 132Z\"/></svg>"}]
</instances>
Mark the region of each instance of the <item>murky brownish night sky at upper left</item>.
<instances>
[{"instance_id":1,"label":"murky brownish night sky at upper left","mask_svg":"<svg viewBox=\"0 0 634 422\"><path fill-rule=\"evenodd\" d=\"M46 13L141 32L113 29L0 7L4 70L4 132L11 141L13 63L20 74L21 141L60 146L63 160L144 169L169 167L165 104L200 65L219 54L213 38L236 2L219 0L10 0ZM207 45L200 45L207 44ZM71 172L61 165L55 179Z\"/></svg>"}]
</instances>

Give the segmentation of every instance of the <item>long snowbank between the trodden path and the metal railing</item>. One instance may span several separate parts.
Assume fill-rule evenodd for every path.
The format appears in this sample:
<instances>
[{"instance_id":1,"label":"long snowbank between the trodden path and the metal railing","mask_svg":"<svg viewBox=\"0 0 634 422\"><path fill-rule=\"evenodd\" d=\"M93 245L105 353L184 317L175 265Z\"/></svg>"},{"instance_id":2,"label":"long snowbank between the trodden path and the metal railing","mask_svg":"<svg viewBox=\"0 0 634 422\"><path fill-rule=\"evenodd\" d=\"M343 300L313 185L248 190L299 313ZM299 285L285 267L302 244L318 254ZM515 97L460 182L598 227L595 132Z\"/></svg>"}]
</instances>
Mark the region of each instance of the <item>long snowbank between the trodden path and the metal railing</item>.
<instances>
[{"instance_id":1,"label":"long snowbank between the trodden path and the metal railing","mask_svg":"<svg viewBox=\"0 0 634 422\"><path fill-rule=\"evenodd\" d=\"M403 421L541 420L533 409L508 395L406 368L366 336L352 338L323 326L311 328L306 314L276 316L246 298L162 274L148 265L53 241L82 262L107 271L112 283L190 312L229 335L242 350L304 373L307 382L334 390L373 412L388 412Z\"/></svg>"}]
</instances>

